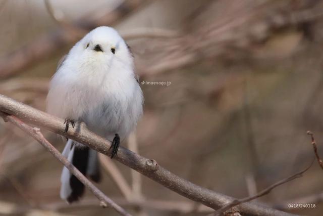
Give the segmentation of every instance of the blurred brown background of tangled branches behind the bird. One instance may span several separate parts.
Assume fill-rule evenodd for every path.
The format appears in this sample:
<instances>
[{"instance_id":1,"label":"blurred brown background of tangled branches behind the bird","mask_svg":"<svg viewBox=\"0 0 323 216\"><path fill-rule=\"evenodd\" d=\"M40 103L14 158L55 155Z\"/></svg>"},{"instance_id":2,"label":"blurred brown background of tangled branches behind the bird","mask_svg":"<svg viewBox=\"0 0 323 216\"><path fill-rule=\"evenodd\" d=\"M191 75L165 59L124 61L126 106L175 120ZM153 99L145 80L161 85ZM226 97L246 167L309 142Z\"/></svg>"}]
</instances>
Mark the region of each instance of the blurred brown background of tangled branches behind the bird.
<instances>
[{"instance_id":1,"label":"blurred brown background of tangled branches behind the bird","mask_svg":"<svg viewBox=\"0 0 323 216\"><path fill-rule=\"evenodd\" d=\"M129 142L139 154L238 198L306 167L313 157L306 131L323 155L323 1L0 0L0 93L45 110L57 62L97 25L125 37L141 81L171 82L141 85L144 116ZM210 212L120 163L107 171L114 164L101 159L98 187L135 215ZM61 201L61 170L36 141L0 121L1 215L117 215L89 192L75 205ZM130 192L116 185L116 172ZM322 181L315 162L257 201L322 215ZM288 208L298 203L316 207Z\"/></svg>"}]
</instances>

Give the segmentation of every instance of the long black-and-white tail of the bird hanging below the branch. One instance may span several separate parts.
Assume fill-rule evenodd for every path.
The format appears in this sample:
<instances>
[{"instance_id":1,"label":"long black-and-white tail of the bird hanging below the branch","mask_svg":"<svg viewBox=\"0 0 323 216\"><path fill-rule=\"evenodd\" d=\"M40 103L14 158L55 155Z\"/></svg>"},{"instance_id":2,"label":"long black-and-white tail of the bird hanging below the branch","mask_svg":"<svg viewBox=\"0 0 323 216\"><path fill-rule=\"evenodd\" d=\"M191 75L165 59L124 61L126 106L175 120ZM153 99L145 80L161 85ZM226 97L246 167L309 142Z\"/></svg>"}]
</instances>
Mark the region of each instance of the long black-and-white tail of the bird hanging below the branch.
<instances>
[{"instance_id":1,"label":"long black-and-white tail of the bird hanging below the branch","mask_svg":"<svg viewBox=\"0 0 323 216\"><path fill-rule=\"evenodd\" d=\"M62 154L84 176L94 182L100 181L101 175L96 151L69 139ZM61 198L69 203L78 201L84 194L84 185L65 166L62 171L61 183Z\"/></svg>"}]
</instances>

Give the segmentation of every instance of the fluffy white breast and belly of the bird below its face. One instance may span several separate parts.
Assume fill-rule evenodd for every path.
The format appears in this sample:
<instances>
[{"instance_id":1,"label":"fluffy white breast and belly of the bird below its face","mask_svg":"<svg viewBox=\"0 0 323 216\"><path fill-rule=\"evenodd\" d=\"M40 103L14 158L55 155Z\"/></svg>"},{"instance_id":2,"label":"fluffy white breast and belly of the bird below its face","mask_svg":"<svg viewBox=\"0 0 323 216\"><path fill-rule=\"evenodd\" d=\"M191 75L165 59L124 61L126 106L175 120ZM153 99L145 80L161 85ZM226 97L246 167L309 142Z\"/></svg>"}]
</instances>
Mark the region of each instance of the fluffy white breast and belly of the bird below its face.
<instances>
[{"instance_id":1,"label":"fluffy white breast and belly of the bird below its face","mask_svg":"<svg viewBox=\"0 0 323 216\"><path fill-rule=\"evenodd\" d=\"M142 114L142 92L132 65L67 58L53 76L47 110L61 118L84 121L88 128L112 140L129 135Z\"/></svg>"}]
</instances>

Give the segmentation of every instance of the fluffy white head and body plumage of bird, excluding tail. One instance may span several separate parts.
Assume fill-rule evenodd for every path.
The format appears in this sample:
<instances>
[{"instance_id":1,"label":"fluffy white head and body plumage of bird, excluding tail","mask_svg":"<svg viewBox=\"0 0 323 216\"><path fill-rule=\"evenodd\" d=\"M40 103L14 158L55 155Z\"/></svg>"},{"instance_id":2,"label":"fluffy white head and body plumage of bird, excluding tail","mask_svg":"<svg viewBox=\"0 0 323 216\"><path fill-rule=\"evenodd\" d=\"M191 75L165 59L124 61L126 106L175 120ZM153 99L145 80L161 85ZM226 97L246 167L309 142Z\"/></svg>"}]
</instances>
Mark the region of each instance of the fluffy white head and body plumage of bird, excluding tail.
<instances>
[{"instance_id":1,"label":"fluffy white head and body plumage of bird, excluding tail","mask_svg":"<svg viewBox=\"0 0 323 216\"><path fill-rule=\"evenodd\" d=\"M93 50L97 44L103 52ZM84 121L110 141L116 133L122 140L141 116L142 100L125 41L116 30L104 26L89 32L71 49L50 82L47 111Z\"/></svg>"}]
</instances>

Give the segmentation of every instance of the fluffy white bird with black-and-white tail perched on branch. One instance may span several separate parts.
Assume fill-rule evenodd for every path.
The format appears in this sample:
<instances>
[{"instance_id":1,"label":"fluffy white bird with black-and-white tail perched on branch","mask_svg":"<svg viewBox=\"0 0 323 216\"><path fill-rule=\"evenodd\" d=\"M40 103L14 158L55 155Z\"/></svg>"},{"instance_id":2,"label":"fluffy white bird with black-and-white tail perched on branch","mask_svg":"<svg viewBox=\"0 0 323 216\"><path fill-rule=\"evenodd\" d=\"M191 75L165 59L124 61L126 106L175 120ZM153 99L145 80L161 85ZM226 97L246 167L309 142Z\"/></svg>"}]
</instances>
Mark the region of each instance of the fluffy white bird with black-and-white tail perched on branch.
<instances>
[{"instance_id":1,"label":"fluffy white bird with black-and-white tail perched on branch","mask_svg":"<svg viewBox=\"0 0 323 216\"><path fill-rule=\"evenodd\" d=\"M65 132L75 122L112 142L111 158L143 114L143 94L130 47L112 27L100 26L76 42L59 62L46 98L49 114L65 119ZM72 139L62 152L82 174L100 182L98 153ZM84 185L63 167L60 197L78 201Z\"/></svg>"}]
</instances>

